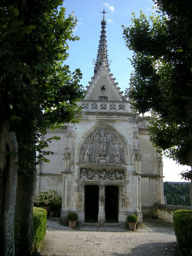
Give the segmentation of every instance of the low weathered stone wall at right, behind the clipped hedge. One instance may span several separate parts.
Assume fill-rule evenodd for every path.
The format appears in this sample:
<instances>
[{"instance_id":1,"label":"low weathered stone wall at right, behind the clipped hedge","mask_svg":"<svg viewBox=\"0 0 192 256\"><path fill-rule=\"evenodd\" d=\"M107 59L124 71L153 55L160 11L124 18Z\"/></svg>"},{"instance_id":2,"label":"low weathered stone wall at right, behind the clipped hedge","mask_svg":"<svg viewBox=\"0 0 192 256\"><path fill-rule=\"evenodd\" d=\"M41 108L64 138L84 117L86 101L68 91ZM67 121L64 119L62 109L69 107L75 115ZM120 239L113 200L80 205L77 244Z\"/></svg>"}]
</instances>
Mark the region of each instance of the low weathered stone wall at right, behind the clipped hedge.
<instances>
[{"instance_id":1,"label":"low weathered stone wall at right, behind the clipped hedge","mask_svg":"<svg viewBox=\"0 0 192 256\"><path fill-rule=\"evenodd\" d=\"M173 213L179 209L191 209L191 207L177 206L171 204L154 204L154 215L162 221L173 223Z\"/></svg>"}]
</instances>

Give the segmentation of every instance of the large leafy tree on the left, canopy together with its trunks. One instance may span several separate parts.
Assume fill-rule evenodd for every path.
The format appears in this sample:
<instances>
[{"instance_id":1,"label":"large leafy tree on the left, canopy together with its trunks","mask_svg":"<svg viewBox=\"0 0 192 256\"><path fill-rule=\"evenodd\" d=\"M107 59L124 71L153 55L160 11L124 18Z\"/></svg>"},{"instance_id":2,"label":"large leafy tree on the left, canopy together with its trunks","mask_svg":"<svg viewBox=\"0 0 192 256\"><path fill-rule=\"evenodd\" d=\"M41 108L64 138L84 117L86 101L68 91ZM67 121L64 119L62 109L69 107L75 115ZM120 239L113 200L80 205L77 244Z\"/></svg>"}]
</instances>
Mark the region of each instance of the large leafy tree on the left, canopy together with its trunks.
<instances>
[{"instance_id":1,"label":"large leafy tree on the left, canopy together with its trunks","mask_svg":"<svg viewBox=\"0 0 192 256\"><path fill-rule=\"evenodd\" d=\"M79 38L76 18L65 18L62 2L0 3L0 246L7 256L15 253L14 218L21 227L17 254L35 255L35 153L40 160L47 154L40 140L47 128L76 121L75 102L83 93L80 70L64 63L67 41Z\"/></svg>"}]
</instances>

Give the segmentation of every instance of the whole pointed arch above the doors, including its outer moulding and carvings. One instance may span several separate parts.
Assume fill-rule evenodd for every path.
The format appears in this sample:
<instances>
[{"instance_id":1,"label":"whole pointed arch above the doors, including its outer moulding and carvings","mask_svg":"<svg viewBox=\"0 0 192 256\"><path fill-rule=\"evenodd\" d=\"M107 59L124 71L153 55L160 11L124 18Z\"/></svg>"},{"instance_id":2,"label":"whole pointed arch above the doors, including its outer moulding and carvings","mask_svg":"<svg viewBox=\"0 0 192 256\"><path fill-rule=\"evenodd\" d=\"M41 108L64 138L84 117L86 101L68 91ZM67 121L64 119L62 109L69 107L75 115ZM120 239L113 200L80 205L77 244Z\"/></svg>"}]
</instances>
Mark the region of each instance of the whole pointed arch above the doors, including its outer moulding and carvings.
<instances>
[{"instance_id":1,"label":"whole pointed arch above the doors, including its outer moulding and carvings","mask_svg":"<svg viewBox=\"0 0 192 256\"><path fill-rule=\"evenodd\" d=\"M130 158L130 149L122 134L103 121L84 133L77 150L80 163L125 164Z\"/></svg>"}]
</instances>

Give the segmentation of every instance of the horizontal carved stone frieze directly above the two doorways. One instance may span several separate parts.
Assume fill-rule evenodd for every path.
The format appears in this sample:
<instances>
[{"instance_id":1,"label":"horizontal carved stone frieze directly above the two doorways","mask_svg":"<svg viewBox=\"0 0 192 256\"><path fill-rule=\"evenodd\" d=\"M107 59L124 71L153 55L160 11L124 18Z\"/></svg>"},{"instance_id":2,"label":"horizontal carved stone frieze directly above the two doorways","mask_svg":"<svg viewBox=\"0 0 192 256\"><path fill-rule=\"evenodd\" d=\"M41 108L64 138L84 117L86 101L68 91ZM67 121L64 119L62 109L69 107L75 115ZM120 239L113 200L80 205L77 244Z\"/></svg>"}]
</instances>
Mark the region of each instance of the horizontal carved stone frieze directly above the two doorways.
<instances>
[{"instance_id":1,"label":"horizontal carved stone frieze directly above the two doorways","mask_svg":"<svg viewBox=\"0 0 192 256\"><path fill-rule=\"evenodd\" d=\"M92 169L81 169L80 170L80 180L96 181L124 181L125 173L123 170L113 170L113 171L96 171Z\"/></svg>"}]
</instances>

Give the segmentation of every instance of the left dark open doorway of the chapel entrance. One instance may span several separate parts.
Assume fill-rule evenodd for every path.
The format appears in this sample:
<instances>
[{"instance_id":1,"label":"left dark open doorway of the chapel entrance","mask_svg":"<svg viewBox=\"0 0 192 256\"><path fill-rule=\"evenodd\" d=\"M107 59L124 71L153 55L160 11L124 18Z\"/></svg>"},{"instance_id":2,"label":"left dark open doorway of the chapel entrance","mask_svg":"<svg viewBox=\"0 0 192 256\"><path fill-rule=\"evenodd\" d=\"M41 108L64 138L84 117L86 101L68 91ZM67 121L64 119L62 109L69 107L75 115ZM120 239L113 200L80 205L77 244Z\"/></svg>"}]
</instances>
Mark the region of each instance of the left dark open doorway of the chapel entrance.
<instances>
[{"instance_id":1,"label":"left dark open doorway of the chapel entrance","mask_svg":"<svg viewBox=\"0 0 192 256\"><path fill-rule=\"evenodd\" d=\"M99 186L86 185L84 187L84 221L98 222Z\"/></svg>"}]
</instances>

